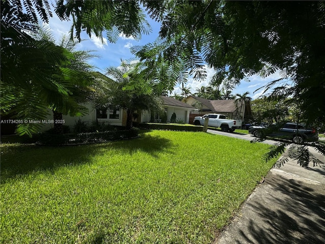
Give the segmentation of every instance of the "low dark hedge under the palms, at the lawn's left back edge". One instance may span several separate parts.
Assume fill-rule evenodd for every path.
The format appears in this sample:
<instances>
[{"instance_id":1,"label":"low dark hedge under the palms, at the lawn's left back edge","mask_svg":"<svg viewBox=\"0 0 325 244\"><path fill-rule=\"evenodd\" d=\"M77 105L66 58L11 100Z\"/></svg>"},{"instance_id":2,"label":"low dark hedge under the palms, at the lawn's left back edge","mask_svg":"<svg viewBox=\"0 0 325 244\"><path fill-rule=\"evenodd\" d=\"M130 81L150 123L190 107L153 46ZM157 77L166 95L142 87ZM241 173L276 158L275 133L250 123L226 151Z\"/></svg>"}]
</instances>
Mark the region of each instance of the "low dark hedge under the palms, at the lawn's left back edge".
<instances>
[{"instance_id":1,"label":"low dark hedge under the palms, at the lawn's left back edge","mask_svg":"<svg viewBox=\"0 0 325 244\"><path fill-rule=\"evenodd\" d=\"M139 130L137 129L63 135L43 133L37 136L37 144L49 146L74 145L132 139L138 136Z\"/></svg>"}]
</instances>

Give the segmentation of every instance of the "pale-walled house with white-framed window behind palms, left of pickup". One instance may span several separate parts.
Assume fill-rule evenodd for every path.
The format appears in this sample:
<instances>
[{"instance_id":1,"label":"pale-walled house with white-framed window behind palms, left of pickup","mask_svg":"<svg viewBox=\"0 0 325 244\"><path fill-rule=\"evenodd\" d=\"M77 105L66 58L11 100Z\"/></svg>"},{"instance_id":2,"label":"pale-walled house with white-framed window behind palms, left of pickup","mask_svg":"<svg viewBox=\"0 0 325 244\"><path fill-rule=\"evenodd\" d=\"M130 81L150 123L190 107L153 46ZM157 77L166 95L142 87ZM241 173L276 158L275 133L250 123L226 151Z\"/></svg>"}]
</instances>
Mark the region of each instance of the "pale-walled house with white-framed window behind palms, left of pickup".
<instances>
[{"instance_id":1,"label":"pale-walled house with white-framed window behind palms, left of pickup","mask_svg":"<svg viewBox=\"0 0 325 244\"><path fill-rule=\"evenodd\" d=\"M160 98L163 100L163 106L167 113L167 120L170 120L172 114L176 113L176 119L181 119L185 123L189 123L189 116L190 112L196 111L198 109L180 102L174 98L170 97L164 97L160 96ZM99 123L108 123L113 126L126 126L126 110L125 109L94 109L93 105L91 103L88 103L85 105L89 113L80 116L80 117L72 117L69 115L63 115L63 119L65 121L64 126L69 126L71 129L76 125L77 121L80 119L81 121L91 124L93 121L98 120ZM53 113L52 111L49 112L50 114L46 118L46 120L53 119ZM161 119L159 118L159 115L155 115L154 122L159 122ZM152 116L150 112L143 112L141 113L141 116L137 119L139 123L146 123L152 121ZM41 131L46 131L53 128L53 124L43 124L43 127Z\"/></svg>"}]
</instances>

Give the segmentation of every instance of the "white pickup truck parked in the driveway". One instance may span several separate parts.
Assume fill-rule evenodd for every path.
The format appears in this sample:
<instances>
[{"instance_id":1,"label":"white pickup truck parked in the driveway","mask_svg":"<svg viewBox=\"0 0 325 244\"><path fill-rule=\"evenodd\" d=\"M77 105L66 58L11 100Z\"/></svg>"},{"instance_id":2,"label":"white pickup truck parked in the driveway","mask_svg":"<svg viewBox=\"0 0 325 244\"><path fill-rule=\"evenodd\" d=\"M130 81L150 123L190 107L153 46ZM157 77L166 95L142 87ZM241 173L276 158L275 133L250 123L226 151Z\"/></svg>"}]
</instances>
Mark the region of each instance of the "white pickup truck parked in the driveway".
<instances>
[{"instance_id":1,"label":"white pickup truck parked in the driveway","mask_svg":"<svg viewBox=\"0 0 325 244\"><path fill-rule=\"evenodd\" d=\"M209 113L204 116L194 117L193 123L197 126L203 126L204 120L209 118L208 126L220 127L221 131L224 132L234 132L236 129L242 128L241 120L226 119L223 114Z\"/></svg>"}]
</instances>

